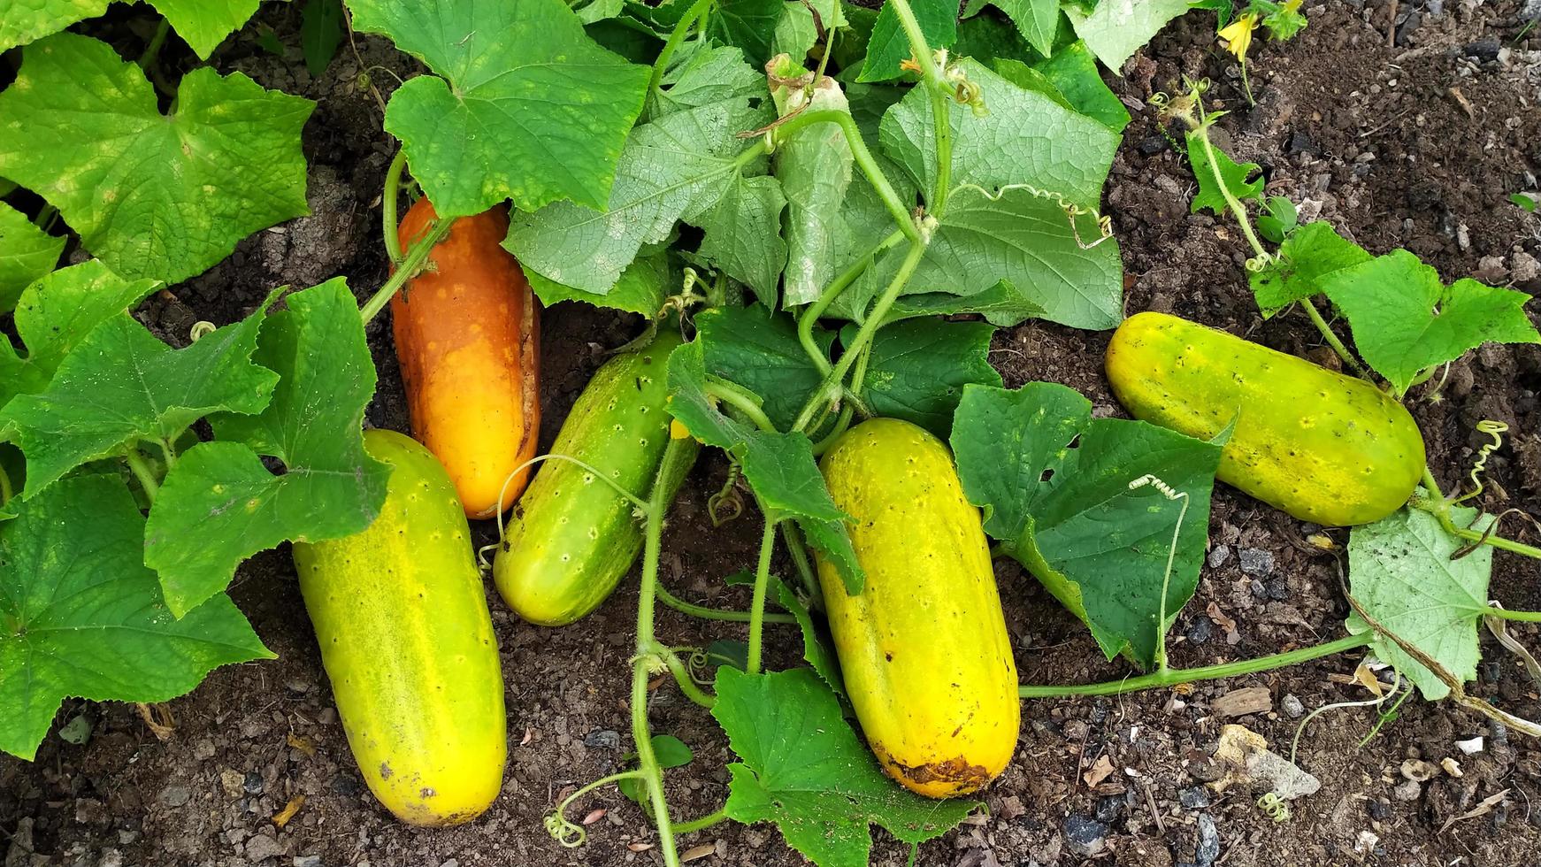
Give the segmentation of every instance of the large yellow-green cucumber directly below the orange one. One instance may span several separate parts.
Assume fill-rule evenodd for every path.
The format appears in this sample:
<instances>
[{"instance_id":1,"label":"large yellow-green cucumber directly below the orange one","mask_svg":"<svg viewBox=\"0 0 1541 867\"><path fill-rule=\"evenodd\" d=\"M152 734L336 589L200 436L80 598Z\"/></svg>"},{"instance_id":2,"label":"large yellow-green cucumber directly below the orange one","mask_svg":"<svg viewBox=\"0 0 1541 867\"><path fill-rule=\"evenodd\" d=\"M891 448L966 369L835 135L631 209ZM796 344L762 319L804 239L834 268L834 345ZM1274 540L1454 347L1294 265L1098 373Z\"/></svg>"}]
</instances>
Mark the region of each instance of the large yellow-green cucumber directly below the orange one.
<instances>
[{"instance_id":1,"label":"large yellow-green cucumber directly below the orange one","mask_svg":"<svg viewBox=\"0 0 1541 867\"><path fill-rule=\"evenodd\" d=\"M465 511L444 467L394 431L364 434L393 465L356 536L294 544L305 610L364 781L413 825L476 818L509 756L498 641Z\"/></svg>"}]
</instances>

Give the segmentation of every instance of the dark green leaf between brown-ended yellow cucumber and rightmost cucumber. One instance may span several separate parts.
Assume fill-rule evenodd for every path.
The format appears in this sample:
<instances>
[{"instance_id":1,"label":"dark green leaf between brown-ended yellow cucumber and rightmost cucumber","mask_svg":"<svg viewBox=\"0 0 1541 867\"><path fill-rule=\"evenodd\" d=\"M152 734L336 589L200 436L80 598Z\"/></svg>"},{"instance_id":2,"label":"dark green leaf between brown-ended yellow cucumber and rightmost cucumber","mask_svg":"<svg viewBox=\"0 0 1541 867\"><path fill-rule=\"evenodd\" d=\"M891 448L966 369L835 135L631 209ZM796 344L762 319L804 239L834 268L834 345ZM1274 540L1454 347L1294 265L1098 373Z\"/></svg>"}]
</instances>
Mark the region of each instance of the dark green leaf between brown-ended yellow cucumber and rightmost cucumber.
<instances>
[{"instance_id":1,"label":"dark green leaf between brown-ended yellow cucumber and rightmost cucumber","mask_svg":"<svg viewBox=\"0 0 1541 867\"><path fill-rule=\"evenodd\" d=\"M1049 382L965 387L951 442L963 491L985 510L985 531L1091 627L1110 659L1126 650L1150 665L1157 638L1199 584L1222 444L1093 419L1089 400ZM1147 474L1187 504L1154 485L1130 488Z\"/></svg>"}]
</instances>

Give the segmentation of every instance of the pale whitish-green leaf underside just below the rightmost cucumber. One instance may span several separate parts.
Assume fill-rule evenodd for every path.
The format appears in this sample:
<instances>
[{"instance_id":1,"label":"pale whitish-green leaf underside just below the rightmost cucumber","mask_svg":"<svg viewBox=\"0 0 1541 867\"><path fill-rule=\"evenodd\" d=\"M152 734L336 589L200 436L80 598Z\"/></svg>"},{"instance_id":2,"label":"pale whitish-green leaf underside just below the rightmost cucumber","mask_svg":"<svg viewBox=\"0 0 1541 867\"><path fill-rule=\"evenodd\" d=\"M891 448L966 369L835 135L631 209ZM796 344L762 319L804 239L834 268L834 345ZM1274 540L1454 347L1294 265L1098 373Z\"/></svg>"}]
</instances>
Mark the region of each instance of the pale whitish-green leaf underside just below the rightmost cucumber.
<instances>
[{"instance_id":1,"label":"pale whitish-green leaf underside just below the rightmost cucumber","mask_svg":"<svg viewBox=\"0 0 1541 867\"><path fill-rule=\"evenodd\" d=\"M1450 517L1458 527L1469 527L1476 510L1455 507ZM1484 527L1487 521L1492 519L1484 516ZM1493 550L1478 545L1452 561L1450 554L1461 545L1462 541L1445 533L1439 521L1416 508L1355 527L1348 536L1348 591L1384 628L1467 682L1476 679L1481 654L1476 625L1487 611ZM1353 634L1370 631L1358 611L1348 614L1347 627ZM1395 641L1376 634L1371 647L1376 658L1418 684L1425 699L1438 701L1450 693L1444 681Z\"/></svg>"}]
</instances>

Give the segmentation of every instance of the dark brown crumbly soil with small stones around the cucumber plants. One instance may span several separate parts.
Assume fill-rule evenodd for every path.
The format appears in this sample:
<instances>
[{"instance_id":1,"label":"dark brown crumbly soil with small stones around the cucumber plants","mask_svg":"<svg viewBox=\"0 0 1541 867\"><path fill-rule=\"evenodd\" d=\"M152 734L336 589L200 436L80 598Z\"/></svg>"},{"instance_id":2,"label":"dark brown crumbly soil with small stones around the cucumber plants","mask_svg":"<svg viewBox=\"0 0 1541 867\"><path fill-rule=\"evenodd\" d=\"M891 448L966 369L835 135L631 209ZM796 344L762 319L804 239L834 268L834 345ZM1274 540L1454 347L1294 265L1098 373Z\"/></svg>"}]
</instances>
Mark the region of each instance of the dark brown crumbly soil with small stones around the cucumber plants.
<instances>
[{"instance_id":1,"label":"dark brown crumbly soil with small stones around the cucumber plants","mask_svg":"<svg viewBox=\"0 0 1541 867\"><path fill-rule=\"evenodd\" d=\"M1125 77L1111 79L1136 115L1106 194L1128 273L1128 310L1173 311L1331 360L1304 316L1259 317L1234 225L1188 214L1193 176L1148 106L1153 91L1173 89L1182 75L1213 80L1210 95L1231 111L1220 122L1222 143L1257 162L1268 189L1299 202L1302 217L1331 220L1375 253L1407 246L1447 280L1475 274L1541 291L1541 219L1507 202L1513 191L1535 189L1541 172L1541 35L1536 29L1521 35L1521 3L1335 0L1308 3L1305 11L1311 23L1296 40L1253 48L1254 106L1242 94L1236 65L1214 48L1213 18L1204 12L1170 26L1130 62ZM1396 40L1387 45L1393 11ZM139 17L148 12L139 6L117 15L91 32L122 42L134 55L145 35ZM268 5L259 20L285 45L297 45L297 8ZM345 274L362 297L385 276L376 242L376 191L388 160L379 97L413 63L376 38L359 37L311 79L296 49L273 57L248 35L231 40L214 63L222 72L239 69L265 86L317 100L305 131L313 214L259 233L225 263L153 299L140 314L173 342L185 342L197 319L222 323L243 316L273 285ZM368 85L361 86L361 75ZM544 445L604 353L632 337L636 322L561 305L546 311L542 330ZM1028 322L997 334L992 359L1006 385L1062 382L1088 394L1099 414L1122 414L1102 376L1106 339ZM370 326L370 342L381 387L368 422L405 430L384 316ZM1541 516L1533 505L1541 494L1538 388L1535 346L1487 346L1456 363L1444 400L1415 407L1441 484L1456 485L1469 468L1484 440L1476 422L1504 420L1510 439L1489 460L1482 504L1489 511L1518 507ZM743 607L743 588L724 588L721 576L752 564L758 528L752 517L710 528L704 491L717 490L724 471L721 460L697 467L670 516L664 576L693 601ZM1347 607L1336 559L1304 542L1316 531L1219 487L1208 565L1173 631L1174 664L1259 656L1341 634ZM1518 521L1509 531L1536 542ZM490 525L478 533L482 542L493 536ZM1339 545L1345 541L1342 531L1327 534ZM1123 664L1102 661L1083 627L1031 576L1009 561L997 561L997 570L1025 682L1126 675ZM170 704L176 722L165 741L133 707L66 702L59 722L83 716L92 727L86 744L49 736L35 762L0 758L3 864L658 864L656 850L644 849L653 839L647 819L613 790L578 808L578 816L606 810L582 849L562 849L541 824L555 801L615 770L629 747L626 671L635 618L629 587L562 630L525 625L488 594L507 676L507 782L481 819L453 830L413 830L371 799L354 768L287 548L260 554L240 568L231 596L277 661L214 671ZM1493 594L1507 607L1541 608L1541 564L1499 554ZM1512 633L1532 645L1541 639L1532 627ZM737 627L703 625L667 610L660 634L675 644L743 638ZM769 634L774 658L792 664L795 636L778 627ZM1482 648L1487 659L1472 693L1541 718L1538 687L1523 664L1486 634ZM1365 698L1361 687L1333 679L1353 673L1358 659L1327 658L1199 684L1182 695L1026 702L1019 759L985 795L989 813L923 845L917 862L1518 867L1541 861L1541 744L1449 702L1407 702L1364 745L1375 710L1316 718L1301 738L1298 762L1322 787L1294 801L1285 822L1276 824L1254 804L1256 792L1202 787L1216 773L1210 753L1222 724L1244 724L1287 753L1302 708ZM1248 687L1262 687L1268 710L1220 716L1228 702L1217 699ZM676 815L715 810L726 796L723 765L730 759L721 731L669 688L655 693L652 719L656 730L697 750L689 767L669 775ZM1472 736L1484 736L1486 748L1469 756L1456 742ZM1088 772L1102 759L1111 773L1097 779ZM1404 759L1435 765L1455 759L1461 773L1408 782ZM1502 805L1462 818L1506 790ZM277 829L271 816L299 796L304 805ZM874 835L875 864L905 864L906 847ZM767 825L718 825L684 842L695 845L703 845L692 850L700 864L801 862Z\"/></svg>"}]
</instances>

